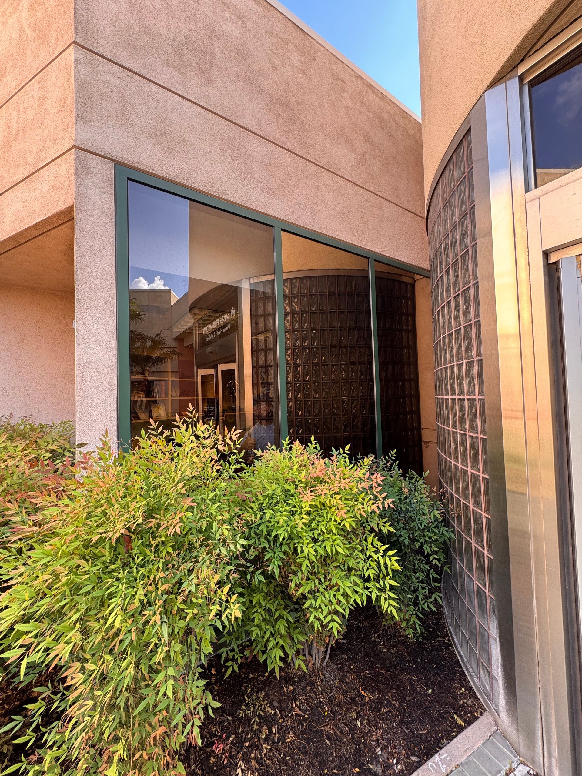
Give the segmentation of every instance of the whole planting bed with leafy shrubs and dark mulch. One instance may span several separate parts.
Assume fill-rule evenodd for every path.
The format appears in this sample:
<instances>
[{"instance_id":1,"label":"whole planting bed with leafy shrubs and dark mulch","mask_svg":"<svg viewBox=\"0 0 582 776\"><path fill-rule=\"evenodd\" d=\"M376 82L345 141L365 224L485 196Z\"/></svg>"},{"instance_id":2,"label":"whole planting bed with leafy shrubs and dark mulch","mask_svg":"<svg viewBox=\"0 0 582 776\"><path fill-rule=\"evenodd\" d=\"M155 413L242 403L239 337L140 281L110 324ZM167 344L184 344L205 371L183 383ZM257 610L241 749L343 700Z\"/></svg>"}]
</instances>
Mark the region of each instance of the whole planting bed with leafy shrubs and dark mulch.
<instances>
[{"instance_id":1,"label":"whole planting bed with leafy shrubs and dark mulch","mask_svg":"<svg viewBox=\"0 0 582 776\"><path fill-rule=\"evenodd\" d=\"M0 418L0 771L404 774L480 715L421 476L249 463L195 414L120 455L71 433Z\"/></svg>"}]
</instances>

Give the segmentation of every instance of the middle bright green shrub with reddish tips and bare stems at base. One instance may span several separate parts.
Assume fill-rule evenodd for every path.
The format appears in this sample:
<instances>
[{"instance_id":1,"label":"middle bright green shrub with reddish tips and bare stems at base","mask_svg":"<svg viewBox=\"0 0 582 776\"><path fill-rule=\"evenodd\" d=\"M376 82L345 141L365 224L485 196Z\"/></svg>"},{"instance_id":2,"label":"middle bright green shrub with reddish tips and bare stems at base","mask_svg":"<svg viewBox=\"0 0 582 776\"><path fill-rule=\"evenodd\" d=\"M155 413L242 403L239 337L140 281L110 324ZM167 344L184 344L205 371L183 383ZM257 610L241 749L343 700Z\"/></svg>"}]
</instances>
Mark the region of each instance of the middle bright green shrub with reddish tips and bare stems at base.
<instances>
[{"instance_id":1,"label":"middle bright green shrub with reddish tips and bare stems at base","mask_svg":"<svg viewBox=\"0 0 582 776\"><path fill-rule=\"evenodd\" d=\"M375 602L397 617L390 501L371 459L312 442L269 448L241 472L246 532L244 605L223 656L256 654L276 671L292 659L323 667L355 606Z\"/></svg>"}]
</instances>

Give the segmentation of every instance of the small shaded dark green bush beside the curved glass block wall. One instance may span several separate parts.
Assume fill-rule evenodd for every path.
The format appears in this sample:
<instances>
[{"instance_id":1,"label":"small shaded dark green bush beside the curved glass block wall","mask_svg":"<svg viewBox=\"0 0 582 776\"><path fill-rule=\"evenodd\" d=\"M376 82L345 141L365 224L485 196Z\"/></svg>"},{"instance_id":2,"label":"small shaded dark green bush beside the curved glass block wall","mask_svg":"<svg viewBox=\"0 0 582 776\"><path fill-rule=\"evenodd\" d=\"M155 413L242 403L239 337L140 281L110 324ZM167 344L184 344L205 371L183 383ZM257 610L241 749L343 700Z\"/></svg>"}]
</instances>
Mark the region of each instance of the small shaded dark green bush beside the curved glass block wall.
<instances>
[{"instance_id":1,"label":"small shaded dark green bush beside the curved glass block wall","mask_svg":"<svg viewBox=\"0 0 582 776\"><path fill-rule=\"evenodd\" d=\"M393 456L376 462L375 469L383 478L384 497L390 500L386 512L393 531L385 539L398 559L397 619L408 636L417 638L423 615L442 603L441 577L454 535L423 477L414 472L404 476Z\"/></svg>"}]
</instances>

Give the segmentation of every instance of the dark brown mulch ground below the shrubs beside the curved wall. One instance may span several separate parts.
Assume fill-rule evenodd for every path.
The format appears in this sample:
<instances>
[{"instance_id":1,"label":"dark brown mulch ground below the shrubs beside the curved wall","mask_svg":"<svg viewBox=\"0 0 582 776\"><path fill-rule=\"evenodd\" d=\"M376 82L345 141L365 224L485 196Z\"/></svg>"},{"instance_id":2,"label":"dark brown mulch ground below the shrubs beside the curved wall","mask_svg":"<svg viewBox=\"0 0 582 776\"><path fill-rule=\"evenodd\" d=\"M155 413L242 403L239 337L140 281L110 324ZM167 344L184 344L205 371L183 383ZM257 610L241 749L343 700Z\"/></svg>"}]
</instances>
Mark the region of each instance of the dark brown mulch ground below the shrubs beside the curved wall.
<instances>
[{"instance_id":1,"label":"dark brown mulch ground below the shrubs beside the curved wall","mask_svg":"<svg viewBox=\"0 0 582 776\"><path fill-rule=\"evenodd\" d=\"M208 675L223 705L185 755L189 776L404 776L483 713L442 611L420 643L375 608L353 612L321 675L289 669L278 680L257 660L227 679L218 664Z\"/></svg>"}]
</instances>

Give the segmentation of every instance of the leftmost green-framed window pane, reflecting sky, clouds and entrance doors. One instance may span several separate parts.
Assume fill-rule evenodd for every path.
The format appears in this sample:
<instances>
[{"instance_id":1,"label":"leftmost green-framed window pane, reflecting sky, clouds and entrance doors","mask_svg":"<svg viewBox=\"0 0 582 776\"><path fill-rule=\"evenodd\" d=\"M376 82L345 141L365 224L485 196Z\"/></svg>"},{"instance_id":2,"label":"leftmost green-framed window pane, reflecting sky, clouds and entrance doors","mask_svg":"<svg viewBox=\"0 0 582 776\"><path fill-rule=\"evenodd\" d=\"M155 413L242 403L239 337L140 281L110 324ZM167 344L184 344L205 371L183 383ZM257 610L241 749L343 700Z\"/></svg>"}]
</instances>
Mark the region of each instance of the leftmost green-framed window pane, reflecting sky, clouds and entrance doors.
<instances>
[{"instance_id":1,"label":"leftmost green-framed window pane, reflecting sky, clouds and entrance doors","mask_svg":"<svg viewBox=\"0 0 582 776\"><path fill-rule=\"evenodd\" d=\"M272 229L129 182L131 432L192 406L279 444Z\"/></svg>"}]
</instances>

